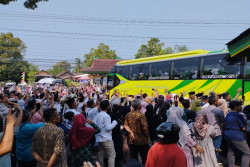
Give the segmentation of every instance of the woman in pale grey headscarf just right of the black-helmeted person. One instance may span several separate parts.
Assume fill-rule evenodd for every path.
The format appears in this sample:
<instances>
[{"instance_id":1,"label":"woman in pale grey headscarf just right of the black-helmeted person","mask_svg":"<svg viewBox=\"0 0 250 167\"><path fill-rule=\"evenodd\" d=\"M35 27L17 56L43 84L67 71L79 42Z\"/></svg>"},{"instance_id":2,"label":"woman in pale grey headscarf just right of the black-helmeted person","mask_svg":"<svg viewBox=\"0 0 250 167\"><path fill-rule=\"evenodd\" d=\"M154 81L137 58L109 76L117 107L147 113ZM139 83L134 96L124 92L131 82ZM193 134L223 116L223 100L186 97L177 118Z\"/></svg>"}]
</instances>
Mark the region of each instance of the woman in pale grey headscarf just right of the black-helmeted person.
<instances>
[{"instance_id":1,"label":"woman in pale grey headscarf just right of the black-helmeted person","mask_svg":"<svg viewBox=\"0 0 250 167\"><path fill-rule=\"evenodd\" d=\"M199 153L203 153L203 149L192 139L191 131L188 125L182 119L183 112L182 108L173 107L170 111L167 122L173 122L180 126L178 143L187 158L187 167L193 167L193 155L191 148L195 147Z\"/></svg>"}]
</instances>

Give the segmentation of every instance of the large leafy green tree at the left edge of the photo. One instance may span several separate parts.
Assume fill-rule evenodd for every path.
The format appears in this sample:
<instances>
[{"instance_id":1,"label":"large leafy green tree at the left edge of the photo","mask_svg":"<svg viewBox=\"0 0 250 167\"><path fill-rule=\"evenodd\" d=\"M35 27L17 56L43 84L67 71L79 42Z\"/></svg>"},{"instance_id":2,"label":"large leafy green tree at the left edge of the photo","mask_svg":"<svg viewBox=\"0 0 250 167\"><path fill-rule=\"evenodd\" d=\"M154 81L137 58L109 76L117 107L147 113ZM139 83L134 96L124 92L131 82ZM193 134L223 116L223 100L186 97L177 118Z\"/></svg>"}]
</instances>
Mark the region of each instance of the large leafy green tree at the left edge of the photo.
<instances>
[{"instance_id":1,"label":"large leafy green tree at the left edge of the photo","mask_svg":"<svg viewBox=\"0 0 250 167\"><path fill-rule=\"evenodd\" d=\"M0 78L1 81L20 82L22 72L27 72L24 61L26 45L12 33L0 34Z\"/></svg>"}]
</instances>

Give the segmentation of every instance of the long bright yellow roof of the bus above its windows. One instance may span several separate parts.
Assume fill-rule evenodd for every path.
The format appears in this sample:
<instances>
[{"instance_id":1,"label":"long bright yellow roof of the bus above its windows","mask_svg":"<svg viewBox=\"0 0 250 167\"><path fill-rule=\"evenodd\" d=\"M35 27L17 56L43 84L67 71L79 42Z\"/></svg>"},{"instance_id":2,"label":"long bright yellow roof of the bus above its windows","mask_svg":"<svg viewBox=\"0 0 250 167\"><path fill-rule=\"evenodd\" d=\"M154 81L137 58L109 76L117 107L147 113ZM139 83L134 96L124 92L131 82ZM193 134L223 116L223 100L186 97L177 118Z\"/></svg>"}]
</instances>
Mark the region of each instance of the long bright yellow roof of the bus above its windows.
<instances>
[{"instance_id":1,"label":"long bright yellow roof of the bus above its windows","mask_svg":"<svg viewBox=\"0 0 250 167\"><path fill-rule=\"evenodd\" d=\"M167 59L175 59L175 58L182 58L182 57L189 57L189 56L198 56L198 55L207 54L207 53L219 53L219 52L224 52L224 51L221 50L221 51L210 52L207 50L193 50L193 51L186 51L186 52L180 52L180 53L173 53L173 54L166 54L166 55L160 55L160 56L140 58L140 59L124 60L124 61L120 61L120 62L116 63L116 65L146 63L146 62L151 62L151 61L161 61L161 60L167 60Z\"/></svg>"}]
</instances>

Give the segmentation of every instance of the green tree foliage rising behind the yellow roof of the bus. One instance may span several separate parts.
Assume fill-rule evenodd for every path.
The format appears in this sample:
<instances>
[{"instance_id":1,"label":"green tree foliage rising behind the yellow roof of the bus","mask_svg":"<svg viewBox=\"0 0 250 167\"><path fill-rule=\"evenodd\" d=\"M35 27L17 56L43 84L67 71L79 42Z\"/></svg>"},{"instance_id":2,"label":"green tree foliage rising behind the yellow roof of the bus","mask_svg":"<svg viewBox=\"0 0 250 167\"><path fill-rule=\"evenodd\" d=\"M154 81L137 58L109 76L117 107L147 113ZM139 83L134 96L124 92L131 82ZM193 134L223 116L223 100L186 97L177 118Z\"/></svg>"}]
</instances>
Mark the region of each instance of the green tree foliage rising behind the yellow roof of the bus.
<instances>
[{"instance_id":1,"label":"green tree foliage rising behind the yellow roof of the bus","mask_svg":"<svg viewBox=\"0 0 250 167\"><path fill-rule=\"evenodd\" d=\"M141 48L135 54L135 58L151 57L164 54L171 54L177 52L188 51L186 45L175 45L174 49L171 47L163 48L164 43L161 43L158 38L151 38L147 45L141 45Z\"/></svg>"}]
</instances>

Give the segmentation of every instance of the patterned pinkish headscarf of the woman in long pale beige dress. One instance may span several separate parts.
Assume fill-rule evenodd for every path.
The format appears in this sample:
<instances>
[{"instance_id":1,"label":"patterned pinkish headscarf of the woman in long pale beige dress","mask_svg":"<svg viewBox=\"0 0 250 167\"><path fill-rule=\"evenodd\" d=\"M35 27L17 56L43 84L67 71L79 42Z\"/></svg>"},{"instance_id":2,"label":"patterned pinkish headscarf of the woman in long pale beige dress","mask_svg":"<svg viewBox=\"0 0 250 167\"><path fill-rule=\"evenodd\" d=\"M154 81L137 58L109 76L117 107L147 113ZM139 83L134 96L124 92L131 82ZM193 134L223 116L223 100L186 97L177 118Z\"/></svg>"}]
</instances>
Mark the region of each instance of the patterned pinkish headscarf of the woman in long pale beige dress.
<instances>
[{"instance_id":1,"label":"patterned pinkish headscarf of the woman in long pale beige dress","mask_svg":"<svg viewBox=\"0 0 250 167\"><path fill-rule=\"evenodd\" d=\"M208 132L207 115L199 112L194 123L194 132L197 138L204 138Z\"/></svg>"}]
</instances>

